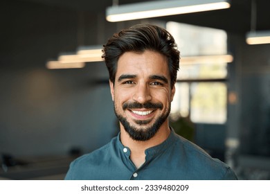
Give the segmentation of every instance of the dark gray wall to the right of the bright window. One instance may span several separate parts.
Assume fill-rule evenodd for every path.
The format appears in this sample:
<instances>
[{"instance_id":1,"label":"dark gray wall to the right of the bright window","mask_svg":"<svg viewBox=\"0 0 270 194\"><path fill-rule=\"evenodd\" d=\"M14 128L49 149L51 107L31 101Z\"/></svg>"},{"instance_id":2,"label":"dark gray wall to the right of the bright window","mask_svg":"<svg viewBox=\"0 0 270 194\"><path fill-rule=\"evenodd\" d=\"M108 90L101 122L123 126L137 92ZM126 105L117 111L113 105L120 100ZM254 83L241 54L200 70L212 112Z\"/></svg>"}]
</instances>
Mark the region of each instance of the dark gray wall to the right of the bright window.
<instances>
[{"instance_id":1,"label":"dark gray wall to the right of the bright window","mask_svg":"<svg viewBox=\"0 0 270 194\"><path fill-rule=\"evenodd\" d=\"M248 45L244 35L230 35L235 55L229 65L228 134L240 140L240 153L270 157L270 45Z\"/></svg>"}]
</instances>

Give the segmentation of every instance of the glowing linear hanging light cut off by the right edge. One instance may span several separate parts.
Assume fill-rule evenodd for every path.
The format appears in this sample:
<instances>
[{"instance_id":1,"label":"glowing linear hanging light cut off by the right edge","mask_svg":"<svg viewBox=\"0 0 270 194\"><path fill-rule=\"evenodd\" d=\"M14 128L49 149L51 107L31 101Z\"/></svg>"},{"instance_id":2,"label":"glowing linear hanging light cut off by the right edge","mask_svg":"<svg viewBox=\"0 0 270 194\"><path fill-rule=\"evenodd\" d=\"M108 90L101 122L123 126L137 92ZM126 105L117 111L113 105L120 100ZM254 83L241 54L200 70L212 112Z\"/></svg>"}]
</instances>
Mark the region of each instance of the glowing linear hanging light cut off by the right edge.
<instances>
[{"instance_id":1,"label":"glowing linear hanging light cut off by the right edge","mask_svg":"<svg viewBox=\"0 0 270 194\"><path fill-rule=\"evenodd\" d=\"M251 31L246 34L247 44L270 44L270 31Z\"/></svg>"}]
</instances>

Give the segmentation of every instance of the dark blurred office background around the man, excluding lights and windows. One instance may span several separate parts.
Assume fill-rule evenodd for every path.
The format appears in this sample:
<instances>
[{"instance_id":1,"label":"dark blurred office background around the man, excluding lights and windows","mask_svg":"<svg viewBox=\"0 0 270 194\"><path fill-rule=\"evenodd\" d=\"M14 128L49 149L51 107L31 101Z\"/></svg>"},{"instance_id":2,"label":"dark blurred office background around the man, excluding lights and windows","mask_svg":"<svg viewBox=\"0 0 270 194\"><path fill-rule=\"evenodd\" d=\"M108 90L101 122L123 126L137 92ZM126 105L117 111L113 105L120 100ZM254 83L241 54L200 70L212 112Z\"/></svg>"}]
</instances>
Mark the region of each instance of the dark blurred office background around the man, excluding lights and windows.
<instances>
[{"instance_id":1,"label":"dark blurred office background around the man, excluding lights and windows","mask_svg":"<svg viewBox=\"0 0 270 194\"><path fill-rule=\"evenodd\" d=\"M141 1L118 1L134 2ZM226 10L119 22L105 19L111 4L1 1L0 177L62 179L72 159L118 132L104 62L87 62L82 69L47 69L46 62L79 46L105 44L133 24L166 27L174 21L224 30L233 55L226 78L219 80L226 85L226 121L192 122L193 141L232 166L240 179L270 179L270 44L246 44L251 1L232 1ZM269 1L257 0L256 30L270 30L269 7Z\"/></svg>"}]
</instances>

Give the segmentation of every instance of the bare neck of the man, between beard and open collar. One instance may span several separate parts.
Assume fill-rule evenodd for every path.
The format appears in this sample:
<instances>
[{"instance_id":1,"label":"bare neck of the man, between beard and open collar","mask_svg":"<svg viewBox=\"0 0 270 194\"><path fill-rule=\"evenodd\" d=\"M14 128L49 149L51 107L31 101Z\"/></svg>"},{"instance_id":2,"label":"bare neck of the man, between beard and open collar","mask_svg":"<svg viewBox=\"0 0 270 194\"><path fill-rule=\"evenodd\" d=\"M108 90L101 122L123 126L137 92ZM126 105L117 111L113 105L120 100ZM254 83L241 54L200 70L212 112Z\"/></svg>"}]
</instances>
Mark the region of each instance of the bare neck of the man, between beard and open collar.
<instances>
[{"instance_id":1,"label":"bare neck of the man, between beard and open collar","mask_svg":"<svg viewBox=\"0 0 270 194\"><path fill-rule=\"evenodd\" d=\"M155 145L161 144L165 141L170 135L170 127L168 122L164 122L163 125L159 128L159 131L147 141L136 141L132 139L129 134L123 128L123 125L120 124L120 139L123 145L127 146L130 151L130 159L136 166L139 168L145 162L145 150L147 148L152 148Z\"/></svg>"}]
</instances>

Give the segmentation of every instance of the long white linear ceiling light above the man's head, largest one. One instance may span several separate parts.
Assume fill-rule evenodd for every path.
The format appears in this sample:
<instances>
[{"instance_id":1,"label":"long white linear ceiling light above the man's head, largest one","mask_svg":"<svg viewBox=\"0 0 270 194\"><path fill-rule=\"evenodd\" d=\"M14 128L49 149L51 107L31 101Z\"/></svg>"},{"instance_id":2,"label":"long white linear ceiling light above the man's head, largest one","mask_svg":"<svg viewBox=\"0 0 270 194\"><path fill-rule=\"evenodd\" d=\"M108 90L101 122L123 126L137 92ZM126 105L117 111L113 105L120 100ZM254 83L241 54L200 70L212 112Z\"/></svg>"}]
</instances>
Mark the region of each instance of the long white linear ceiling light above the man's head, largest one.
<instances>
[{"instance_id":1,"label":"long white linear ceiling light above the man's head, largest one","mask_svg":"<svg viewBox=\"0 0 270 194\"><path fill-rule=\"evenodd\" d=\"M106 10L107 21L127 21L167 15L180 15L190 12L203 12L230 8L226 0L170 0L147 1L120 6L111 6Z\"/></svg>"}]
</instances>

